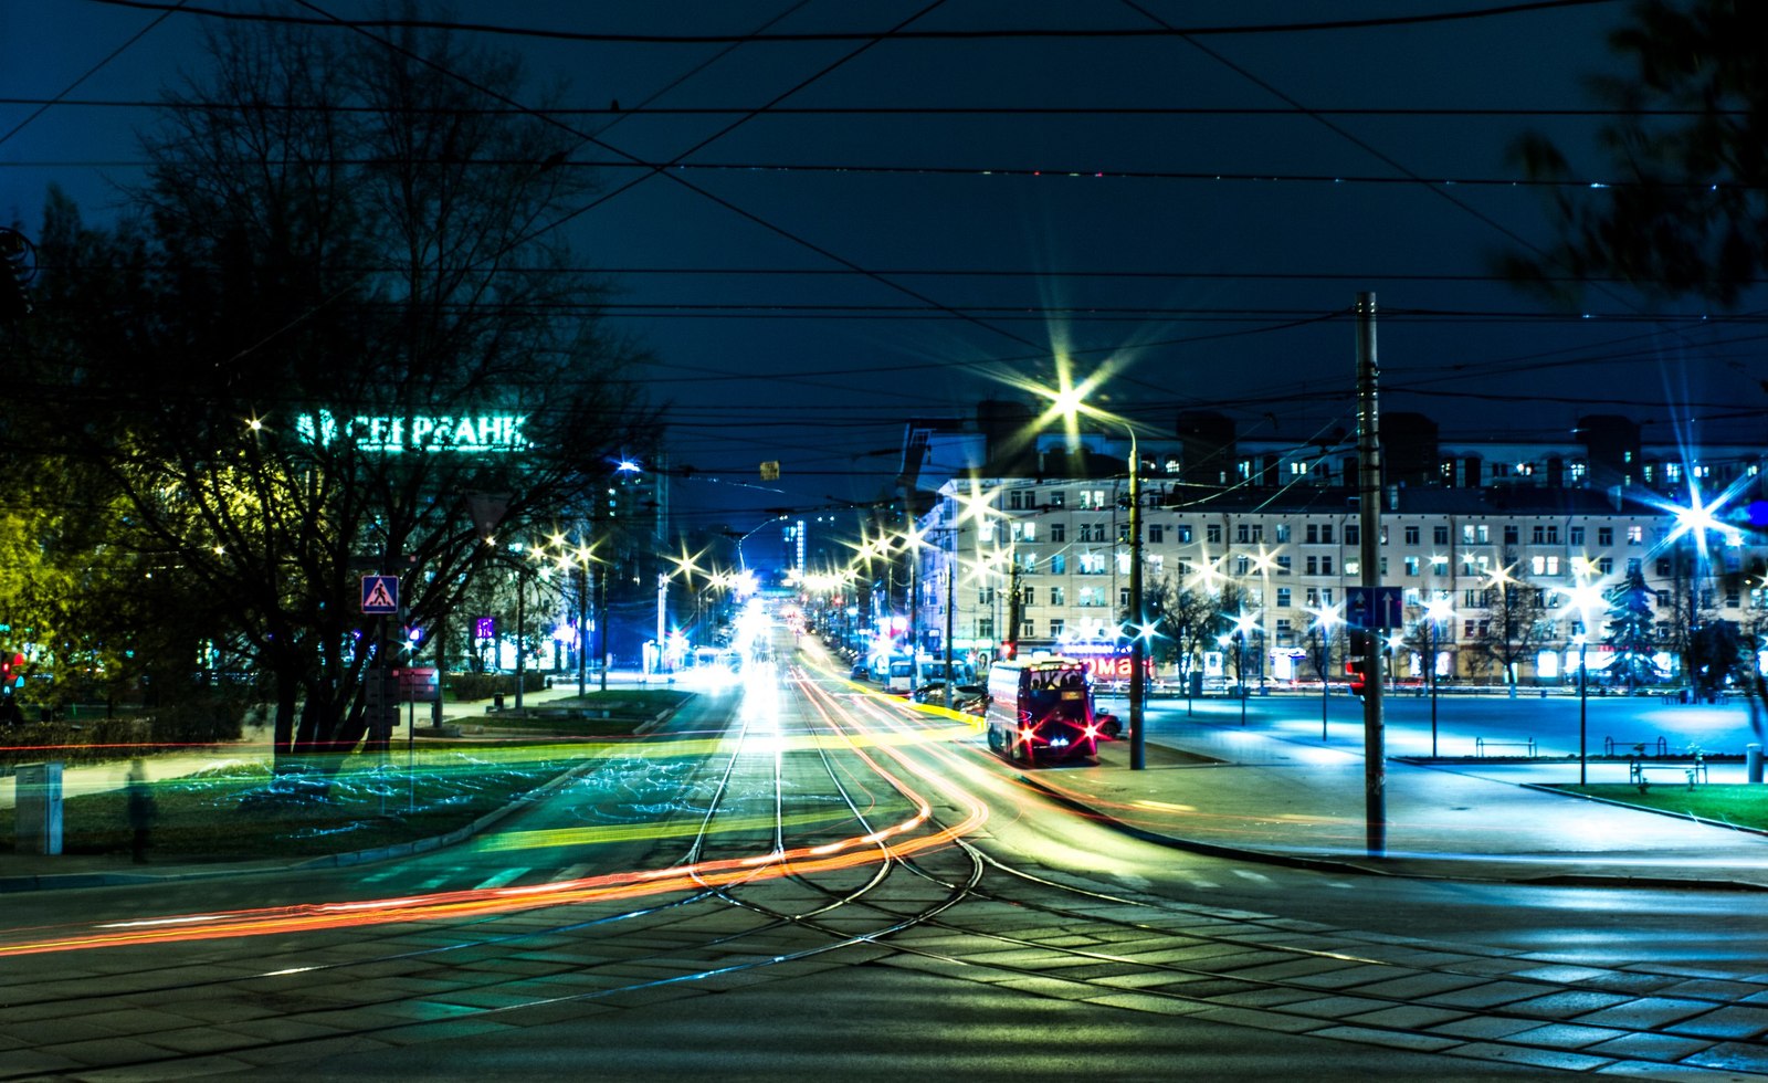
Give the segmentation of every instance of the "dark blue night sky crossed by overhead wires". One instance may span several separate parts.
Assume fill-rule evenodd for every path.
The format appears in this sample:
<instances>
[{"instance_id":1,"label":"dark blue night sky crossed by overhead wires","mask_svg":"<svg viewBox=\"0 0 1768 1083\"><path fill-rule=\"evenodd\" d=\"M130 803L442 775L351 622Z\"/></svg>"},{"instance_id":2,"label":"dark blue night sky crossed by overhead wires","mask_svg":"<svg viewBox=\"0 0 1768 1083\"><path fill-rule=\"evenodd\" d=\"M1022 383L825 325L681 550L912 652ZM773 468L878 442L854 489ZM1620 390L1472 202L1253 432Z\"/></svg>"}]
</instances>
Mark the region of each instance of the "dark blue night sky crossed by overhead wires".
<instances>
[{"instance_id":1,"label":"dark blue night sky crossed by overhead wires","mask_svg":"<svg viewBox=\"0 0 1768 1083\"><path fill-rule=\"evenodd\" d=\"M1604 35L1623 4L451 12L553 32L477 37L527 55L536 101L559 83L562 103L603 110L564 120L585 134L573 161L606 163L608 188L635 175L631 159L686 166L569 227L580 260L622 287L613 326L659 354L645 377L672 403L674 465L697 472L675 490L684 526L873 499L907 418L971 412L1015 395L1013 379L1050 382L1064 350L1080 375L1112 365L1098 405L1147 434L1170 432L1181 409L1223 411L1259 437L1354 428L1347 311L1360 290L1381 306L1383 409L1430 414L1444 439L1559 437L1582 412L1634 416L1646 439L1759 435L1768 365L1752 324L1692 322L1697 303L1612 287L1566 313L1492 274L1499 251L1551 237L1540 191L1506 184L1520 175L1505 157L1519 133L1547 131L1602 179L1588 156L1600 119L1542 111L1598 104L1582 80L1614 71ZM57 182L104 219L108 180L136 177L131 129L150 115L94 103L147 103L202 69L202 23L95 0L0 5L0 218L34 232ZM1229 23L1250 30L1202 34ZM863 37L893 28L1082 34ZM757 32L859 37L564 37ZM606 111L615 101L621 113ZM781 462L778 483L760 481L764 460Z\"/></svg>"}]
</instances>

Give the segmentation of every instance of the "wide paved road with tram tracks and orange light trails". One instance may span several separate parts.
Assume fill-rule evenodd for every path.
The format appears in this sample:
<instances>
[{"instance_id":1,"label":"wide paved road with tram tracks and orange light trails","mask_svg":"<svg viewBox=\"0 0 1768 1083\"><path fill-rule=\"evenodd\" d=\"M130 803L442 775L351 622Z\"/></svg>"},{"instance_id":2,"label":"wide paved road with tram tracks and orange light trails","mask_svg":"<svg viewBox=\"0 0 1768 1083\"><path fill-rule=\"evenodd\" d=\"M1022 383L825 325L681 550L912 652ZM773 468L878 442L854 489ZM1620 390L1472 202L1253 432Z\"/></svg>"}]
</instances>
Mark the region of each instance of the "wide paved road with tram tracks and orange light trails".
<instances>
[{"instance_id":1,"label":"wide paved road with tram tracks and orange light trails","mask_svg":"<svg viewBox=\"0 0 1768 1083\"><path fill-rule=\"evenodd\" d=\"M1736 895L1176 851L813 657L698 711L447 851L9 897L0 1078L1764 1069Z\"/></svg>"}]
</instances>

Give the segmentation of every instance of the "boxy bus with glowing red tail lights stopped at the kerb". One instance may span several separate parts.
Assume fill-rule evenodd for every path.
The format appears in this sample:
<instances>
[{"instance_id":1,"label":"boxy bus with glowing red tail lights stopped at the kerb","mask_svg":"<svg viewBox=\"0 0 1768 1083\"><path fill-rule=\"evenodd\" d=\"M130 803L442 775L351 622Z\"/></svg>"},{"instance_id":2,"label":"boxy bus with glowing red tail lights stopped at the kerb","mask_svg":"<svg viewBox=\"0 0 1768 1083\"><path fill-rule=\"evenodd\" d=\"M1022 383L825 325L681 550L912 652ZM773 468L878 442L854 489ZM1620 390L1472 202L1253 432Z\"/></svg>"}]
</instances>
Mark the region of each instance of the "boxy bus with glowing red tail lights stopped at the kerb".
<instances>
[{"instance_id":1,"label":"boxy bus with glowing red tail lights stopped at the kerb","mask_svg":"<svg viewBox=\"0 0 1768 1083\"><path fill-rule=\"evenodd\" d=\"M1034 655L988 669L988 747L1011 763L1098 759L1087 664Z\"/></svg>"}]
</instances>

